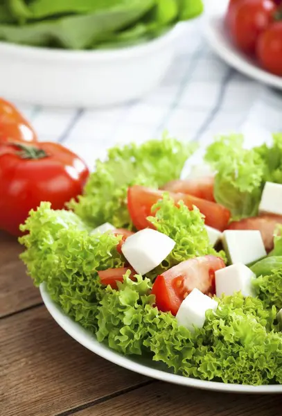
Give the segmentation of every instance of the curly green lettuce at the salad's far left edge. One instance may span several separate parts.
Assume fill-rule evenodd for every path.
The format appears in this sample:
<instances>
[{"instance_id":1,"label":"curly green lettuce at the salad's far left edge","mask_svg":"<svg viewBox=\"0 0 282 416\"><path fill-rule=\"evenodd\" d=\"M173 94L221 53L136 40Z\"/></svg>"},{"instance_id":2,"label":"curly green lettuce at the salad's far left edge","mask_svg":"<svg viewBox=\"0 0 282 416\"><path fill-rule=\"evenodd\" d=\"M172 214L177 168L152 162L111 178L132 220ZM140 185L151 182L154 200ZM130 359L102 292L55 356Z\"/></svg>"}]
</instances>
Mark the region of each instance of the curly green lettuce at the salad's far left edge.
<instances>
[{"instance_id":1,"label":"curly green lettuce at the salad's far left edge","mask_svg":"<svg viewBox=\"0 0 282 416\"><path fill-rule=\"evenodd\" d=\"M83 327L96 330L98 302L104 295L98 270L124 265L113 234L89 235L82 220L71 211L52 210L42 202L31 211L19 239L26 246L21 259L35 286L46 284L51 298Z\"/></svg>"}]
</instances>

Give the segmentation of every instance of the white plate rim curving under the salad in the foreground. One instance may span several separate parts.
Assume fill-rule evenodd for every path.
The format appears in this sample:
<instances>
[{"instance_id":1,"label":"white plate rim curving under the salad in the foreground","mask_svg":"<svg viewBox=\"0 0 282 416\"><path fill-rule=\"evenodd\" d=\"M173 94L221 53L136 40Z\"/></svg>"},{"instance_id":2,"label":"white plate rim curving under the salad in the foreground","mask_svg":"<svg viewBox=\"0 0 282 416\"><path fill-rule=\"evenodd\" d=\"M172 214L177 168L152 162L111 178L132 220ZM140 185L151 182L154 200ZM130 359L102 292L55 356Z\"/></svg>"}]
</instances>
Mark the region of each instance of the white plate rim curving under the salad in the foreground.
<instances>
[{"instance_id":1,"label":"white plate rim curving under the salad in the foreground","mask_svg":"<svg viewBox=\"0 0 282 416\"><path fill-rule=\"evenodd\" d=\"M108 361L114 364L121 365L121 367L127 368L144 376L152 377L161 381L168 381L169 383L175 383L179 385L186 385L187 387L200 388L204 390L216 390L221 392L237 392L237 393L282 393L282 385L240 385L240 384L224 384L216 383L214 381L202 381L197 379L191 379L189 377L178 376L166 372L161 364L155 363L155 361L149 361L142 357L123 356L109 349L104 344L98 343L95 336L87 332L82 328L80 324L74 322L62 312L62 309L55 304L49 294L46 291L45 285L40 286L40 293L42 295L43 302L48 309L49 313L53 316L54 320L66 331L69 335L78 341L84 347L90 349L90 351L98 354Z\"/></svg>"}]
</instances>

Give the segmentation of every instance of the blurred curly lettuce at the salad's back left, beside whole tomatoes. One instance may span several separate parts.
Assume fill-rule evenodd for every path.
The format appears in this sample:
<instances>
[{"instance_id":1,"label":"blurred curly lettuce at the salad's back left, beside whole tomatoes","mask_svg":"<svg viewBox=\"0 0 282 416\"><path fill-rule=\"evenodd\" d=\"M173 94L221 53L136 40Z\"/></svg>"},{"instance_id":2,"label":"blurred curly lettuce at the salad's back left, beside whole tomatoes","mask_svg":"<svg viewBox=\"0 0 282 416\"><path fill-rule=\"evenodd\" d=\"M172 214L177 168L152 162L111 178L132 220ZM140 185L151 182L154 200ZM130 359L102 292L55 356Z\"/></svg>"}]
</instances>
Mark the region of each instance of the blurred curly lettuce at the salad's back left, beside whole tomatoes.
<instances>
[{"instance_id":1,"label":"blurred curly lettuce at the salad's back left, beside whole tomatoes","mask_svg":"<svg viewBox=\"0 0 282 416\"><path fill-rule=\"evenodd\" d=\"M85 191L70 207L91 227L109 222L115 227L131 223L127 210L127 189L133 184L158 187L179 177L195 145L170 139L150 140L137 146L116 146L107 160L96 162Z\"/></svg>"}]
</instances>

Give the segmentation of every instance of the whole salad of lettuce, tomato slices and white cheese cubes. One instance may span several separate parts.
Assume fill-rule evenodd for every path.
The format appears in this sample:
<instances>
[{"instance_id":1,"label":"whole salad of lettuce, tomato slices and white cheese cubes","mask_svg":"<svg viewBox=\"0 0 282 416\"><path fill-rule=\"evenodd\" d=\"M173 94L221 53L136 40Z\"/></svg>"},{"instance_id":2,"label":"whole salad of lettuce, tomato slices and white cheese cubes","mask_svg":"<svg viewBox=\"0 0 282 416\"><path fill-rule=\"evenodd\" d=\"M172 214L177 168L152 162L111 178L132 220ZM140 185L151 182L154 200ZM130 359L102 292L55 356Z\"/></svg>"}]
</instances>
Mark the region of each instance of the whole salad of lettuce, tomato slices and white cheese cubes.
<instances>
[{"instance_id":1,"label":"whole salad of lettuce, tomato slices and white cheese cubes","mask_svg":"<svg viewBox=\"0 0 282 416\"><path fill-rule=\"evenodd\" d=\"M42 202L21 259L100 343L186 377L282 383L282 134L270 146L168 136L97 160L67 209Z\"/></svg>"}]
</instances>

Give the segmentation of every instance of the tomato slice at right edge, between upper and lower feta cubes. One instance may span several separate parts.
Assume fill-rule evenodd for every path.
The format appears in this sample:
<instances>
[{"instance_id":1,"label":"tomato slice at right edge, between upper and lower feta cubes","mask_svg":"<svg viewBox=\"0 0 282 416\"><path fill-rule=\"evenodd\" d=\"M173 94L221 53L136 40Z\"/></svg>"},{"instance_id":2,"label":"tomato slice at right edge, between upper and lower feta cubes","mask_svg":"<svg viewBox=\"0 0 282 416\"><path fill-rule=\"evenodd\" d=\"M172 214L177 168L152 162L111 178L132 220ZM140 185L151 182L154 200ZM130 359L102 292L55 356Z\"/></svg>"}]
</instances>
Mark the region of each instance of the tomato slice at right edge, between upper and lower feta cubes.
<instances>
[{"instance_id":1,"label":"tomato slice at right edge, between upper and lower feta cubes","mask_svg":"<svg viewBox=\"0 0 282 416\"><path fill-rule=\"evenodd\" d=\"M277 224L282 224L282 216L263 214L258 217L233 221L229 224L228 229L258 229L263 237L265 250L270 252L273 248L273 234Z\"/></svg>"}]
</instances>

